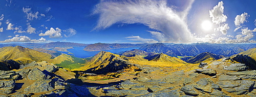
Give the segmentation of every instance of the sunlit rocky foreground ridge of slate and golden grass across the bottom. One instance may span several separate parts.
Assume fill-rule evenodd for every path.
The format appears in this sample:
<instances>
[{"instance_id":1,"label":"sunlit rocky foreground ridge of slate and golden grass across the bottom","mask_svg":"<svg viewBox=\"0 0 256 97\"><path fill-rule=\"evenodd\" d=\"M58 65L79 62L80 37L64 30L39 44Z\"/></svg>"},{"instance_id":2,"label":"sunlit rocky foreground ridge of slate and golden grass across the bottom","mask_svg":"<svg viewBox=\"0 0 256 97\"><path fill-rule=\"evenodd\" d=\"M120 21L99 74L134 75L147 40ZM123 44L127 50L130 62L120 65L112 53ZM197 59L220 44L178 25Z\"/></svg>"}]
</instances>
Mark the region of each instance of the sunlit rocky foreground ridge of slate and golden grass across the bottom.
<instances>
[{"instance_id":1,"label":"sunlit rocky foreground ridge of slate and golden grass across the bottom","mask_svg":"<svg viewBox=\"0 0 256 97\"><path fill-rule=\"evenodd\" d=\"M34 61L18 70L0 71L0 96L256 96L256 71L231 58L200 63L195 70L134 66L139 68L130 74L134 78L99 84L84 82L52 63Z\"/></svg>"}]
</instances>

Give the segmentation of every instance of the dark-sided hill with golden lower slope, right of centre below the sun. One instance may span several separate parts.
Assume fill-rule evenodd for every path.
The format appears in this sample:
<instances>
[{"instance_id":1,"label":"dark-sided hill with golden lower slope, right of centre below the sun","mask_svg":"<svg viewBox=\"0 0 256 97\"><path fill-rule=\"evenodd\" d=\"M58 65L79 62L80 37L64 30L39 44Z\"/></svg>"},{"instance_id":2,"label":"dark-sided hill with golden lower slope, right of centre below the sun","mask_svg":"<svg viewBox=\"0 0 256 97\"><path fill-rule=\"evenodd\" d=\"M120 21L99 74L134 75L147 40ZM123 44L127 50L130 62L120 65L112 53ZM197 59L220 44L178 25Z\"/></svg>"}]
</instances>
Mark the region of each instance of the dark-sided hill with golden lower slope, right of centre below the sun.
<instances>
[{"instance_id":1,"label":"dark-sided hill with golden lower slope, right of centre below the sun","mask_svg":"<svg viewBox=\"0 0 256 97\"><path fill-rule=\"evenodd\" d=\"M214 53L204 52L204 53L201 53L201 54L196 55L194 57L191 57L189 59L186 59L185 61L187 63L199 63L199 62L208 62L208 61L216 60L216 59L220 59L220 58L223 58L223 56L222 55L216 55Z\"/></svg>"}]
</instances>

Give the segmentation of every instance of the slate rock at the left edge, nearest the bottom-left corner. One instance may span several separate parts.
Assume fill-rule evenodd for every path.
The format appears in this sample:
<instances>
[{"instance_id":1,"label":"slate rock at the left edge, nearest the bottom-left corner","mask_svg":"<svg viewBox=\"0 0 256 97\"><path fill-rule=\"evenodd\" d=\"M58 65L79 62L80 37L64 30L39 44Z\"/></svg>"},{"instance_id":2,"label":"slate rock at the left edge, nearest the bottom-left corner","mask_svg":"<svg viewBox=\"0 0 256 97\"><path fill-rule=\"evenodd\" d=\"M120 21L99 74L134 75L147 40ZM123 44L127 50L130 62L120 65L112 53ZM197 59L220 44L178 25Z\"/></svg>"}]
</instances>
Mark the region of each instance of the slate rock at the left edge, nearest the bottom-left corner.
<instances>
[{"instance_id":1,"label":"slate rock at the left edge, nearest the bottom-left corner","mask_svg":"<svg viewBox=\"0 0 256 97\"><path fill-rule=\"evenodd\" d=\"M13 80L0 81L0 93L10 94L12 93L14 87L15 87L15 81Z\"/></svg>"}]
</instances>

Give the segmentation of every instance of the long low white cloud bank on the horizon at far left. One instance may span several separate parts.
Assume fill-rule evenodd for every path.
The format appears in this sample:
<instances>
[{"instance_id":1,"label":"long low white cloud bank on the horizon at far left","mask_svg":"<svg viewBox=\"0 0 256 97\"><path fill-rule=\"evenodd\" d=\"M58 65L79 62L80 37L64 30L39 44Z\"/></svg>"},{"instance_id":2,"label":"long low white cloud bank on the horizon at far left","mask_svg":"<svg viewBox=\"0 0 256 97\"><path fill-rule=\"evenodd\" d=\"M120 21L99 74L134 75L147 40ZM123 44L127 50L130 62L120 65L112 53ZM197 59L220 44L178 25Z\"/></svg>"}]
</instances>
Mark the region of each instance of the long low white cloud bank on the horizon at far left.
<instances>
[{"instance_id":1,"label":"long low white cloud bank on the horizon at far left","mask_svg":"<svg viewBox=\"0 0 256 97\"><path fill-rule=\"evenodd\" d=\"M8 38L9 37L11 37L11 36L8 36ZM27 36L15 35L15 37L13 37L11 39L7 39L5 41L0 41L0 43L10 43L10 42L46 42L46 39L40 38L39 40L31 40Z\"/></svg>"}]
</instances>

